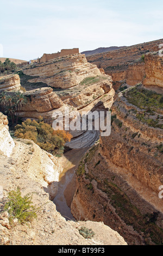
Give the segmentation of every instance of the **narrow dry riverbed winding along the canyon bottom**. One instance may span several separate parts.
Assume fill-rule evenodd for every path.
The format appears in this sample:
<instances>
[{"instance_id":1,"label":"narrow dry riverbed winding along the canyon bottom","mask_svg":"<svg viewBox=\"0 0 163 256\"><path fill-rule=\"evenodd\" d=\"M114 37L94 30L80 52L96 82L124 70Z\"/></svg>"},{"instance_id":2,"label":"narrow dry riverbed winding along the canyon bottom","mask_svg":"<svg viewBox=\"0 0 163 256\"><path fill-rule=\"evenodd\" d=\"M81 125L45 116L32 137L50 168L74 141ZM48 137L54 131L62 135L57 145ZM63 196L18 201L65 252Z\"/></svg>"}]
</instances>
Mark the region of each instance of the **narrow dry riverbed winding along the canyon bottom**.
<instances>
[{"instance_id":1,"label":"narrow dry riverbed winding along the canyon bottom","mask_svg":"<svg viewBox=\"0 0 163 256\"><path fill-rule=\"evenodd\" d=\"M66 220L74 220L70 205L73 194L76 191L75 171L88 149L89 148L72 149L65 153L60 159L63 172L60 175L58 193L53 202L56 205L57 211L60 212Z\"/></svg>"}]
</instances>

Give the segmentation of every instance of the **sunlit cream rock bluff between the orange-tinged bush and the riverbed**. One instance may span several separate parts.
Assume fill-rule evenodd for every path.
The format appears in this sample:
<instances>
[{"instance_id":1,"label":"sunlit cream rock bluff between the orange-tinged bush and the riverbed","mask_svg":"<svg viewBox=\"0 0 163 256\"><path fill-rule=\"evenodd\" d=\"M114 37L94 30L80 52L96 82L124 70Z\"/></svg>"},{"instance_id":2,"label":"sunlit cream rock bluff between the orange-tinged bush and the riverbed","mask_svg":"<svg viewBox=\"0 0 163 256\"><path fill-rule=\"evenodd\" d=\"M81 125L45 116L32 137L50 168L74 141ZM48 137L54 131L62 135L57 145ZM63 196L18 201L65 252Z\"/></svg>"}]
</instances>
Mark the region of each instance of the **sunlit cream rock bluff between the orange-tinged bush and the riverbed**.
<instances>
[{"instance_id":1,"label":"sunlit cream rock bluff between the orange-tinged bush and the riverbed","mask_svg":"<svg viewBox=\"0 0 163 256\"><path fill-rule=\"evenodd\" d=\"M15 144L12 153L14 163L21 167L30 179L39 182L53 200L62 172L58 158L42 150L33 141L21 139L16 140Z\"/></svg>"}]
</instances>

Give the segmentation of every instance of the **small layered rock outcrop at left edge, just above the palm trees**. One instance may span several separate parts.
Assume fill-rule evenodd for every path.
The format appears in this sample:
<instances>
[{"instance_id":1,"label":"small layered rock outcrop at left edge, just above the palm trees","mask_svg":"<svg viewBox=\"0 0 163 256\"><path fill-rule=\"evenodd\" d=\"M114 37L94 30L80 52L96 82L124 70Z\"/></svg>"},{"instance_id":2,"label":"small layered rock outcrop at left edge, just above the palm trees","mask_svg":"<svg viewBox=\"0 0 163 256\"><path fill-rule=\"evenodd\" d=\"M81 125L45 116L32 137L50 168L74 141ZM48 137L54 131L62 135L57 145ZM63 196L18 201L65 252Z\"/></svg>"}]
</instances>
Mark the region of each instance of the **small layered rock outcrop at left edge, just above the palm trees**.
<instances>
[{"instance_id":1,"label":"small layered rock outcrop at left edge, just above the palm trees","mask_svg":"<svg viewBox=\"0 0 163 256\"><path fill-rule=\"evenodd\" d=\"M0 92L7 91L16 91L20 90L20 77L19 75L7 75L0 77Z\"/></svg>"}]
</instances>

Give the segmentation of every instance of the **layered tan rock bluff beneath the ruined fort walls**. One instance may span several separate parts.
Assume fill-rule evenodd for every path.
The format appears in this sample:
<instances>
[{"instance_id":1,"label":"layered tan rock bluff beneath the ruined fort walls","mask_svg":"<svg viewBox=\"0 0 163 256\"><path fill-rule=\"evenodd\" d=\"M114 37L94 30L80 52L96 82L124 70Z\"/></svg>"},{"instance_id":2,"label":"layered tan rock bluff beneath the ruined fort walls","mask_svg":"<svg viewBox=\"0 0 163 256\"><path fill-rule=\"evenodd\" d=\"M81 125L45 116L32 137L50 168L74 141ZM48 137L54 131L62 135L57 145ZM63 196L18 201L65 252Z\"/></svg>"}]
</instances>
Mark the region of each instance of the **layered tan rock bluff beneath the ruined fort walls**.
<instances>
[{"instance_id":1,"label":"layered tan rock bluff beneath the ruined fort walls","mask_svg":"<svg viewBox=\"0 0 163 256\"><path fill-rule=\"evenodd\" d=\"M37 71L41 74L34 74ZM24 95L28 97L28 103L20 109L20 117L23 118L38 119L41 115L45 122L52 125L54 119L58 117L58 112L64 122L65 108L68 108L72 115L75 112L74 117L70 117L71 121L76 114L80 113L82 116L82 112L110 109L114 101L115 90L112 88L111 77L105 75L103 69L99 70L96 65L87 63L82 54L56 58L47 63L34 65L34 68L25 69L23 72L30 75L30 78L32 75L37 76L30 79L30 82L45 82L45 79L51 77L53 86L61 87L39 88L26 92ZM65 74L71 80L67 80ZM59 77L61 85L57 85L56 77ZM69 131L73 135L73 140L67 143L70 148L90 146L99 137L97 132Z\"/></svg>"}]
</instances>

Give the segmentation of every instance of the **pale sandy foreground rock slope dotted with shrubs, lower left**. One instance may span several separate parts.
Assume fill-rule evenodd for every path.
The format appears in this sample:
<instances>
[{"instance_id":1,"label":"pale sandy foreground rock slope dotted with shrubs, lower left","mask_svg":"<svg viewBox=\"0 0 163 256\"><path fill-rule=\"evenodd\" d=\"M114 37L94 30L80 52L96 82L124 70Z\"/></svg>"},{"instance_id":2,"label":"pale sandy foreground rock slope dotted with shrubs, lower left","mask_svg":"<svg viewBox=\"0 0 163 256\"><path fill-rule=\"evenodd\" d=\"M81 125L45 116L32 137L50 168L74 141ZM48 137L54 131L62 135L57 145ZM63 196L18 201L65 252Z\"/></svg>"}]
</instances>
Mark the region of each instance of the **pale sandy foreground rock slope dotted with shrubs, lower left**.
<instances>
[{"instance_id":1,"label":"pale sandy foreground rock slope dotted with shrubs, lower left","mask_svg":"<svg viewBox=\"0 0 163 256\"><path fill-rule=\"evenodd\" d=\"M5 117L0 120L7 125ZM5 136L8 135L4 135L4 140ZM56 192L61 171L57 157L29 140L16 139L10 157L0 155L0 245L127 245L122 236L104 223L67 222L57 212L49 198ZM8 193L17 187L22 197L32 193L33 204L41 207L36 220L23 225L16 218L11 225L8 212L3 211ZM92 229L93 238L80 235L82 227Z\"/></svg>"}]
</instances>

